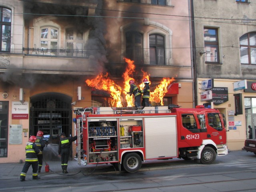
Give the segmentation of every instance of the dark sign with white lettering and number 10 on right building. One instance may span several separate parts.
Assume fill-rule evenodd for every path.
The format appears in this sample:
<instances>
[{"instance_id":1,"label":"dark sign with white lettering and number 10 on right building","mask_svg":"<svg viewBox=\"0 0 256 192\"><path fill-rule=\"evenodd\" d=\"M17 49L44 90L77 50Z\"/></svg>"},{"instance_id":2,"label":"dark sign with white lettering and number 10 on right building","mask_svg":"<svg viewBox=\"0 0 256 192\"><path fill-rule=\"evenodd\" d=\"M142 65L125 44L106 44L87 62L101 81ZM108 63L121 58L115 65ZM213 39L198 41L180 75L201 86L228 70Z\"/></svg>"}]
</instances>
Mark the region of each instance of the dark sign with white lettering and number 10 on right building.
<instances>
[{"instance_id":1,"label":"dark sign with white lettering and number 10 on right building","mask_svg":"<svg viewBox=\"0 0 256 192\"><path fill-rule=\"evenodd\" d=\"M227 101L228 101L228 88L227 87L212 88L212 102L215 105L220 105Z\"/></svg>"}]
</instances>

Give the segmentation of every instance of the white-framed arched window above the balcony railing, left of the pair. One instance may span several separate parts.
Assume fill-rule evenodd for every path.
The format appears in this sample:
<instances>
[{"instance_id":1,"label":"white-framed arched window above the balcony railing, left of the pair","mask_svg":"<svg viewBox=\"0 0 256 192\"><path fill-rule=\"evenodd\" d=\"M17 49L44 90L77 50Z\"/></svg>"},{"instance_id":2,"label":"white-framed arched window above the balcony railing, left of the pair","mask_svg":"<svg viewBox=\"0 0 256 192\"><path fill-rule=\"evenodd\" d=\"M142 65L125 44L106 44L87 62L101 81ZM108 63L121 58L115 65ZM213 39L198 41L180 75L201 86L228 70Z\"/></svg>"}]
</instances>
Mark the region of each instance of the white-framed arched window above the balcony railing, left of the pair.
<instances>
[{"instance_id":1,"label":"white-framed arched window above the balcony railing, left of the pair","mask_svg":"<svg viewBox=\"0 0 256 192\"><path fill-rule=\"evenodd\" d=\"M55 28L41 28L40 48L58 49L58 30Z\"/></svg>"}]
</instances>

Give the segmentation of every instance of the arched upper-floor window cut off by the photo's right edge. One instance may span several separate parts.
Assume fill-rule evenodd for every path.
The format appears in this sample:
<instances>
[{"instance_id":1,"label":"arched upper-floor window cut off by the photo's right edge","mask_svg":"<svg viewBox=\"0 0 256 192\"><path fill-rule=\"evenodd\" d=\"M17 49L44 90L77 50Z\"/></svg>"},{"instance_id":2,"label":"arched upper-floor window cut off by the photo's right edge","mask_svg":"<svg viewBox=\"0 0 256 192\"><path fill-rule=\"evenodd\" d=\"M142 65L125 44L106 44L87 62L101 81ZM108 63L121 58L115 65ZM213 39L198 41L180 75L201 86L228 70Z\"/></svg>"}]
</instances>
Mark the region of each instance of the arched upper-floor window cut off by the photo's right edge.
<instances>
[{"instance_id":1,"label":"arched upper-floor window cut off by the photo's right edge","mask_svg":"<svg viewBox=\"0 0 256 192\"><path fill-rule=\"evenodd\" d=\"M239 38L241 64L256 64L256 32L244 34Z\"/></svg>"}]
</instances>

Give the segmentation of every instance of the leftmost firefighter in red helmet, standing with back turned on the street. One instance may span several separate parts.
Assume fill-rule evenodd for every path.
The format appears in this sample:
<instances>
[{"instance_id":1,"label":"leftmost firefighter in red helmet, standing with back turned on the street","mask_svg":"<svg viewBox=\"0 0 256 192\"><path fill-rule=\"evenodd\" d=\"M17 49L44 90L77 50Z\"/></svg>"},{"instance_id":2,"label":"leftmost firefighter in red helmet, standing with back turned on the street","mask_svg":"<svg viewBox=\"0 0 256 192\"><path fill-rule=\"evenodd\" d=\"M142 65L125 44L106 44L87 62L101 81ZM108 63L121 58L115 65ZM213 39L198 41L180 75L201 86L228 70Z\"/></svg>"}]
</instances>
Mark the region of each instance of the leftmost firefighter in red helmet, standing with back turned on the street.
<instances>
[{"instance_id":1,"label":"leftmost firefighter in red helmet, standing with back turned on the street","mask_svg":"<svg viewBox=\"0 0 256 192\"><path fill-rule=\"evenodd\" d=\"M40 149L35 144L36 136L30 136L28 142L26 143L26 160L23 166L23 169L20 174L20 181L25 181L26 173L28 172L28 168L32 165L32 179L40 179L37 175L38 169L38 159L37 154L40 153Z\"/></svg>"}]
</instances>

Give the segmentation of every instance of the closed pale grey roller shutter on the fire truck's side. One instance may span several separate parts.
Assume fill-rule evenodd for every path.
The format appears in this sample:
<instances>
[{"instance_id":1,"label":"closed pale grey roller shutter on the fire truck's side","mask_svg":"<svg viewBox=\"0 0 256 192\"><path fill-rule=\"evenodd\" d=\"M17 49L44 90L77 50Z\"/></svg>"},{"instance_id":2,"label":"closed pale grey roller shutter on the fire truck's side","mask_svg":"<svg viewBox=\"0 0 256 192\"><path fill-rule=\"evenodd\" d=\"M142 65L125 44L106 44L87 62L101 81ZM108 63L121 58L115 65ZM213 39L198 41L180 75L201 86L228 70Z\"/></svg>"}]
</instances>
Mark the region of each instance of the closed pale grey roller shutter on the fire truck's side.
<instances>
[{"instance_id":1,"label":"closed pale grey roller shutter on the fire truck's side","mask_svg":"<svg viewBox=\"0 0 256 192\"><path fill-rule=\"evenodd\" d=\"M176 157L176 116L145 118L146 159Z\"/></svg>"}]
</instances>

